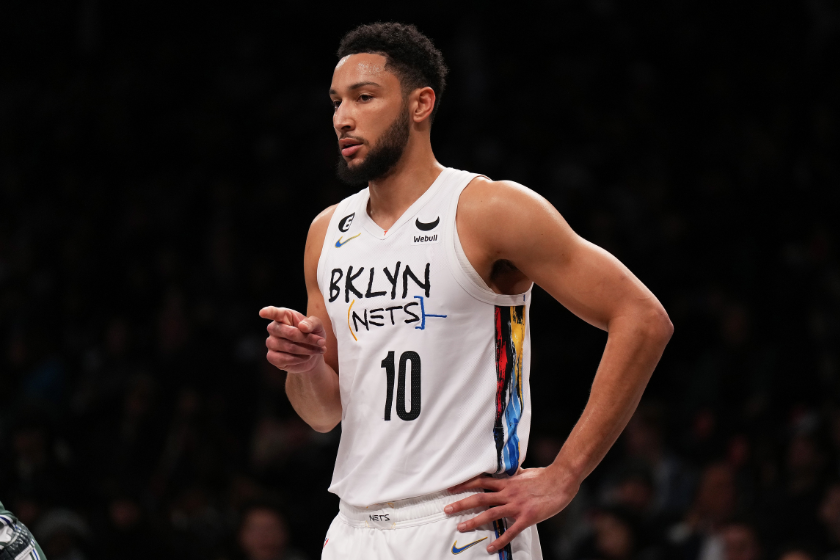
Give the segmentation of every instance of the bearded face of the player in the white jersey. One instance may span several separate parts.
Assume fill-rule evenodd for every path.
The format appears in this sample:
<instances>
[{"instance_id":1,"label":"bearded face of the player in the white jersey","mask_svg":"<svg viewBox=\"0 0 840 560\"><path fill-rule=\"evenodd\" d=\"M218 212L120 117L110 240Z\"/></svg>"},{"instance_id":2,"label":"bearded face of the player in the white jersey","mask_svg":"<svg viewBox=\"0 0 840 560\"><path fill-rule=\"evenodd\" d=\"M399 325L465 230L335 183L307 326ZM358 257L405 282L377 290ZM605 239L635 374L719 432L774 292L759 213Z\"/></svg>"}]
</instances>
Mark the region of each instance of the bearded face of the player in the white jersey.
<instances>
[{"instance_id":1,"label":"bearded face of the player in the white jersey","mask_svg":"<svg viewBox=\"0 0 840 560\"><path fill-rule=\"evenodd\" d=\"M411 123L399 79L379 54L342 58L330 86L338 136L338 176L364 184L387 176L408 144Z\"/></svg>"}]
</instances>

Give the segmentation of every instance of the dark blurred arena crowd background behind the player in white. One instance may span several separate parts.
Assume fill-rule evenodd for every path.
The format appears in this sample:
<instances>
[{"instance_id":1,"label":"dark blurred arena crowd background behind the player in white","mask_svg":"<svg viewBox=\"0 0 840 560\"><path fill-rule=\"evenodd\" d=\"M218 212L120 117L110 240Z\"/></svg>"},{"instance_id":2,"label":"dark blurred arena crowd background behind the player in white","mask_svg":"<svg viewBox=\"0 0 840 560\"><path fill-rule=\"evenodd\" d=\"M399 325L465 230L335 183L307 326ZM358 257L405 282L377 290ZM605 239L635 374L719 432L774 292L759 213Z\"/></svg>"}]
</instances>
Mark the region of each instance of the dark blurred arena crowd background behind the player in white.
<instances>
[{"instance_id":1,"label":"dark blurred arena crowd background behind the player in white","mask_svg":"<svg viewBox=\"0 0 840 560\"><path fill-rule=\"evenodd\" d=\"M257 312L305 308L308 225L352 192L327 89L375 20L446 57L441 163L546 197L675 325L546 558L840 551L836 1L12 4L0 500L50 560L246 558L254 500L277 560L318 557L338 430L291 410ZM531 320L541 466L606 335L539 289Z\"/></svg>"}]
</instances>

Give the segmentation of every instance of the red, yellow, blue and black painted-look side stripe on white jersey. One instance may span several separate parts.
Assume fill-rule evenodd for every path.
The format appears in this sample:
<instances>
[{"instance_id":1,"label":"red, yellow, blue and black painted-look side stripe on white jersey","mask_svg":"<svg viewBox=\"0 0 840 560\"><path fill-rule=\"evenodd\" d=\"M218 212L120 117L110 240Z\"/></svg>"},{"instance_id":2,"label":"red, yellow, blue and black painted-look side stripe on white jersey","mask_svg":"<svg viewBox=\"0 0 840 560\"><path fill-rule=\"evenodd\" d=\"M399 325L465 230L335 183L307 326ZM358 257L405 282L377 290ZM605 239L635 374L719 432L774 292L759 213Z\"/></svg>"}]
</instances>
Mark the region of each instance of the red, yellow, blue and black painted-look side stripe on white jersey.
<instances>
[{"instance_id":1,"label":"red, yellow, blue and black painted-look side stripe on white jersey","mask_svg":"<svg viewBox=\"0 0 840 560\"><path fill-rule=\"evenodd\" d=\"M519 468L522 418L522 353L525 343L525 306L496 306L496 474L513 475Z\"/></svg>"}]
</instances>

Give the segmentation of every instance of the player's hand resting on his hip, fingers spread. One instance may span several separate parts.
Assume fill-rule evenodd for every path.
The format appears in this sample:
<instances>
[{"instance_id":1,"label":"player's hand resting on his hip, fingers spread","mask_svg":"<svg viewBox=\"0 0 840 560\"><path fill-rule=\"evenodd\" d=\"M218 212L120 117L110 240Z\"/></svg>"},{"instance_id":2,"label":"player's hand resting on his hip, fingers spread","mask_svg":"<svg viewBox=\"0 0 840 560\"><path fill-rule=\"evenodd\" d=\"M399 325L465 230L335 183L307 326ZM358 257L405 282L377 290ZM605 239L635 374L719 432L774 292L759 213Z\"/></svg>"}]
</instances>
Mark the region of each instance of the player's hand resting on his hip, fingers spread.
<instances>
[{"instance_id":1,"label":"player's hand resting on his hip, fingers spread","mask_svg":"<svg viewBox=\"0 0 840 560\"><path fill-rule=\"evenodd\" d=\"M449 489L453 493L466 490L489 490L489 492L449 504L443 511L448 515L453 515L476 507L489 508L472 519L460 523L458 530L462 533L472 531L502 517L513 519L513 525L487 546L487 552L493 554L507 546L526 528L563 511L579 489L580 482L574 481L571 477L558 476L551 467L520 468L510 478L478 476L453 486Z\"/></svg>"}]
</instances>

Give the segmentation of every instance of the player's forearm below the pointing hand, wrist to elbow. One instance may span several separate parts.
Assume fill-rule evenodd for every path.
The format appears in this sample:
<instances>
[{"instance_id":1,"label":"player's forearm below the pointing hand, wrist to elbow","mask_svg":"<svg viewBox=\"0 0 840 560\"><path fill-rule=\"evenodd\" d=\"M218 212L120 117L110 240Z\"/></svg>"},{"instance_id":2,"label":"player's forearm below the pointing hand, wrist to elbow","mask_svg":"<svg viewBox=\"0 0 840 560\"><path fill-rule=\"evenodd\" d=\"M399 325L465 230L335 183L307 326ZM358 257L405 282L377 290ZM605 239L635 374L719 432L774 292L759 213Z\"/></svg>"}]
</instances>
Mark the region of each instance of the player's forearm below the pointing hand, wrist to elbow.
<instances>
[{"instance_id":1,"label":"player's forearm below the pointing hand, wrist to elbow","mask_svg":"<svg viewBox=\"0 0 840 560\"><path fill-rule=\"evenodd\" d=\"M295 412L318 432L329 432L341 422L338 374L323 359L310 371L287 373L286 395Z\"/></svg>"}]
</instances>

